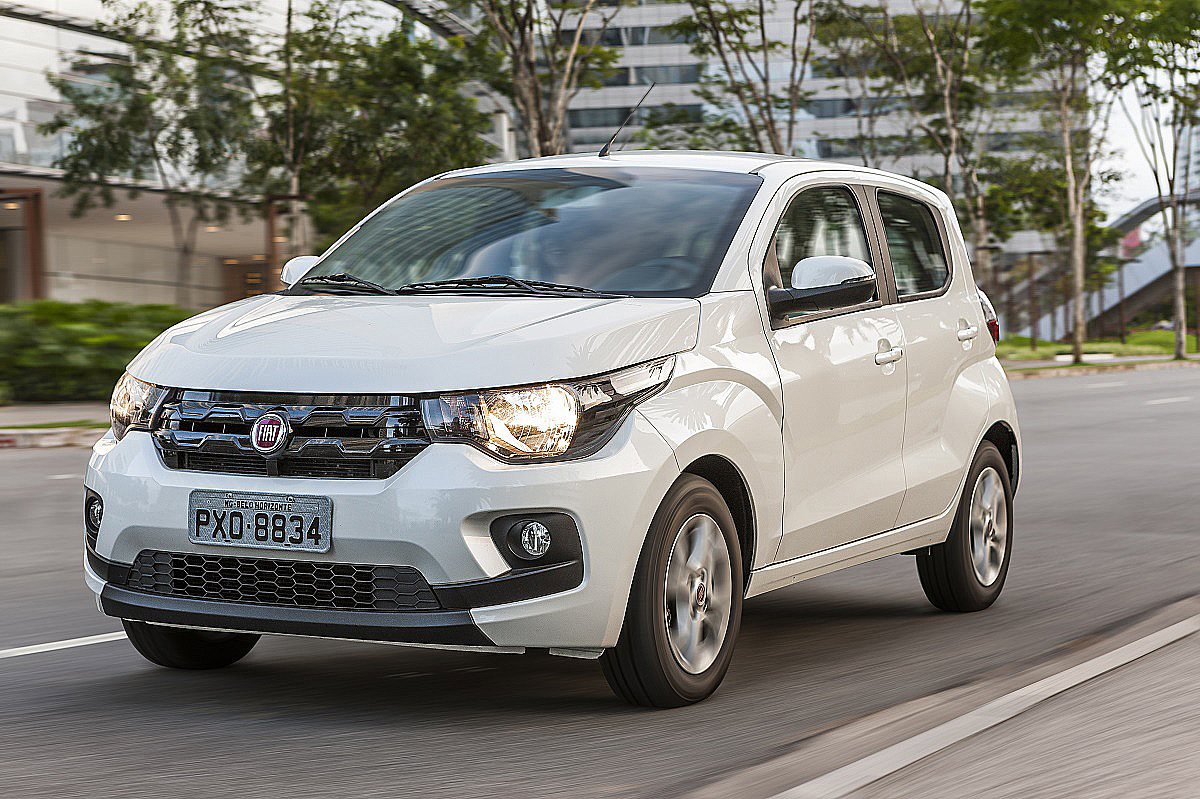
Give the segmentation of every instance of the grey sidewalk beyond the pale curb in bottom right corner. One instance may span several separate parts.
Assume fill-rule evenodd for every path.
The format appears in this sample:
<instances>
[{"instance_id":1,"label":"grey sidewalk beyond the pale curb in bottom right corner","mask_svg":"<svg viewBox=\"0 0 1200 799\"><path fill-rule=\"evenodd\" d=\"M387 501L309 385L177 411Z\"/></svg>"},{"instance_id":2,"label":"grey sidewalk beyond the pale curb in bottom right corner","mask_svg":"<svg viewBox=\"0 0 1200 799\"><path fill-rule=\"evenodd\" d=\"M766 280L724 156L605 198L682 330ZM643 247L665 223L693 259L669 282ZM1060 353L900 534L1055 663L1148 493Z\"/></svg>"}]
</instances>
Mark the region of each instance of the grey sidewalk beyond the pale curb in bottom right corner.
<instances>
[{"instance_id":1,"label":"grey sidewalk beyond the pale curb in bottom right corner","mask_svg":"<svg viewBox=\"0 0 1200 799\"><path fill-rule=\"evenodd\" d=\"M850 795L1200 797L1196 663L1193 635Z\"/></svg>"}]
</instances>

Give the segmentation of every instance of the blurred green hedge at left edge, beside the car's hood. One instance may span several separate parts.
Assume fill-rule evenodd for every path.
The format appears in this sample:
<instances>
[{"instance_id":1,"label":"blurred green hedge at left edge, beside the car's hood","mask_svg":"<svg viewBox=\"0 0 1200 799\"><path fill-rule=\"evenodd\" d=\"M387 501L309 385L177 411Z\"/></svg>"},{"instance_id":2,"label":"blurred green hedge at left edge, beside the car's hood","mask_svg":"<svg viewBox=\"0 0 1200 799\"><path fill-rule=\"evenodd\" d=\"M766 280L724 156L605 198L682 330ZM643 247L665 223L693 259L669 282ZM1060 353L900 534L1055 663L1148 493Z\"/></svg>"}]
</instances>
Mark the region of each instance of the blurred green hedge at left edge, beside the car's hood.
<instances>
[{"instance_id":1,"label":"blurred green hedge at left edge, beside the car's hood","mask_svg":"<svg viewBox=\"0 0 1200 799\"><path fill-rule=\"evenodd\" d=\"M0 385L17 402L107 400L125 366L193 312L166 305L0 305Z\"/></svg>"}]
</instances>

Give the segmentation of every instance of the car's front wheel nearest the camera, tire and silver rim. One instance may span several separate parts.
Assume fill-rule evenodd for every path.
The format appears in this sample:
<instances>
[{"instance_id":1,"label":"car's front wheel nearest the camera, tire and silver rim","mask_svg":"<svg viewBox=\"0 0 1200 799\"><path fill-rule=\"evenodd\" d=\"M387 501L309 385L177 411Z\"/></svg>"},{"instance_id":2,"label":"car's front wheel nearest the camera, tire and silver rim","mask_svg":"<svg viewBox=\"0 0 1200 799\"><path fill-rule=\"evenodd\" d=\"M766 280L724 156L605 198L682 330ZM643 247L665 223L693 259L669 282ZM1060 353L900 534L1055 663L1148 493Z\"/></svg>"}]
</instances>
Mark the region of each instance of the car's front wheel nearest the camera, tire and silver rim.
<instances>
[{"instance_id":1,"label":"car's front wheel nearest the camera, tire and silver rim","mask_svg":"<svg viewBox=\"0 0 1200 799\"><path fill-rule=\"evenodd\" d=\"M728 506L713 483L682 476L650 523L620 638L601 656L612 690L631 704L653 708L710 696L733 656L743 582L742 547ZM698 632L689 636L691 631Z\"/></svg>"}]
</instances>

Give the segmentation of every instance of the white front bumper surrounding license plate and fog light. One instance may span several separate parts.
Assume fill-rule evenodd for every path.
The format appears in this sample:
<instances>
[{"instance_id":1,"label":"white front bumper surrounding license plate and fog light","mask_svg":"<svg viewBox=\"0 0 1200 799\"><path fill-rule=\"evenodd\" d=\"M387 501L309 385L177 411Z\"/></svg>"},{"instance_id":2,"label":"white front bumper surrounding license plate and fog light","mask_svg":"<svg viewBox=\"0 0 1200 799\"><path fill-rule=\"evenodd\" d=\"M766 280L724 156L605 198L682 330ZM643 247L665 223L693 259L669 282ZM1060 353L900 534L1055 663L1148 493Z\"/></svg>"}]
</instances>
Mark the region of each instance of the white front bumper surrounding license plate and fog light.
<instances>
[{"instance_id":1,"label":"white front bumper surrounding license plate and fog light","mask_svg":"<svg viewBox=\"0 0 1200 799\"><path fill-rule=\"evenodd\" d=\"M670 446L631 414L596 455L509 465L434 444L386 480L257 477L167 469L145 433L94 449L85 485L104 500L86 581L110 615L222 630L499 648L616 644L646 530L678 476ZM304 493L334 501L328 553L215 547L187 537L191 491ZM569 515L582 543L570 567L514 570L488 525L512 513ZM139 553L412 566L440 609L361 611L167 596L122 579ZM564 589L564 587L568 587Z\"/></svg>"}]
</instances>

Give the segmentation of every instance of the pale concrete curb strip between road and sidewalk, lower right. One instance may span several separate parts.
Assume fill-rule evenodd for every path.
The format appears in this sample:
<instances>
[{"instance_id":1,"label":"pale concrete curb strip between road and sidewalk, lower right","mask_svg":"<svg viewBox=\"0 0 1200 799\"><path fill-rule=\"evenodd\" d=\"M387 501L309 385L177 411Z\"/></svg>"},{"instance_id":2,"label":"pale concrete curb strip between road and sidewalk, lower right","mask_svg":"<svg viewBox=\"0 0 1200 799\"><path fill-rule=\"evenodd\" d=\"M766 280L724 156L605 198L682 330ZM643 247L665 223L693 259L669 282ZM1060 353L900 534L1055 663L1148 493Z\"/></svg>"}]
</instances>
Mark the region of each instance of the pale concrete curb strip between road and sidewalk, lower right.
<instances>
[{"instance_id":1,"label":"pale concrete curb strip between road and sidewalk, lower right","mask_svg":"<svg viewBox=\"0 0 1200 799\"><path fill-rule=\"evenodd\" d=\"M1152 632L1079 666L1051 674L1037 683L1006 693L958 719L913 735L874 755L854 761L808 782L775 794L772 799L836 799L895 774L922 758L948 749L971 735L1000 725L1030 708L1090 679L1130 663L1152 651L1200 632L1200 614Z\"/></svg>"}]
</instances>

